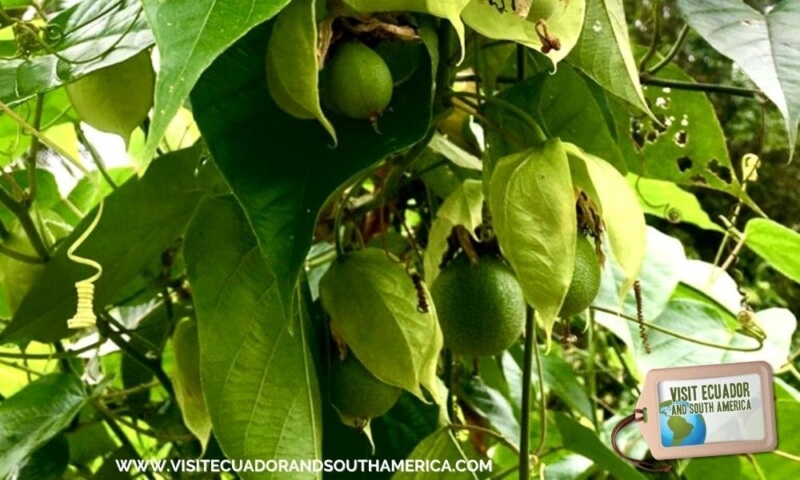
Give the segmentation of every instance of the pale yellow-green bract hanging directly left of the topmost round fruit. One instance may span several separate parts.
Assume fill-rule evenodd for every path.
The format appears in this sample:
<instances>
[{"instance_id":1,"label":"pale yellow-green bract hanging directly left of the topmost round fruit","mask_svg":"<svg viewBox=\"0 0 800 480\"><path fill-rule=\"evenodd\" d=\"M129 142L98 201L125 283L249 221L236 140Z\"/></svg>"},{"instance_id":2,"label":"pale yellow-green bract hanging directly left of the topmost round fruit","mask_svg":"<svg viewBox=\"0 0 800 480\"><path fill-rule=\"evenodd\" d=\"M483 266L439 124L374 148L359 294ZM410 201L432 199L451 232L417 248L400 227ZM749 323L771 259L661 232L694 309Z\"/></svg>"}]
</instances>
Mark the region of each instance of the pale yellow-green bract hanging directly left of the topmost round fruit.
<instances>
[{"instance_id":1,"label":"pale yellow-green bract hanging directly left of the topmost round fruit","mask_svg":"<svg viewBox=\"0 0 800 480\"><path fill-rule=\"evenodd\" d=\"M336 143L336 130L322 113L319 99L317 3L291 2L275 20L267 45L267 87L286 113L316 118Z\"/></svg>"}]
</instances>

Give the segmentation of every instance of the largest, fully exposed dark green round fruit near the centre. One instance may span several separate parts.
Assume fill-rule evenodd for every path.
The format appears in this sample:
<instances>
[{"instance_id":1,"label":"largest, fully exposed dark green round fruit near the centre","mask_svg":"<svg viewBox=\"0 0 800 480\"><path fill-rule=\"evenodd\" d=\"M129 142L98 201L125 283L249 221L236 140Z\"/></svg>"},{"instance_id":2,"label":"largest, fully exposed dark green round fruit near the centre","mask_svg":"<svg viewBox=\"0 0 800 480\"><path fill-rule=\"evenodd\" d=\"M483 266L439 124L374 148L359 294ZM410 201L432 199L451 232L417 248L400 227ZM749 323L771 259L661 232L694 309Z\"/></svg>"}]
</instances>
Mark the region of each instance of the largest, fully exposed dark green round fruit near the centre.
<instances>
[{"instance_id":1,"label":"largest, fully exposed dark green round fruit near the centre","mask_svg":"<svg viewBox=\"0 0 800 480\"><path fill-rule=\"evenodd\" d=\"M466 255L457 257L436 278L431 296L444 344L454 353L497 355L522 334L525 297L499 258L482 257L472 265Z\"/></svg>"}]
</instances>

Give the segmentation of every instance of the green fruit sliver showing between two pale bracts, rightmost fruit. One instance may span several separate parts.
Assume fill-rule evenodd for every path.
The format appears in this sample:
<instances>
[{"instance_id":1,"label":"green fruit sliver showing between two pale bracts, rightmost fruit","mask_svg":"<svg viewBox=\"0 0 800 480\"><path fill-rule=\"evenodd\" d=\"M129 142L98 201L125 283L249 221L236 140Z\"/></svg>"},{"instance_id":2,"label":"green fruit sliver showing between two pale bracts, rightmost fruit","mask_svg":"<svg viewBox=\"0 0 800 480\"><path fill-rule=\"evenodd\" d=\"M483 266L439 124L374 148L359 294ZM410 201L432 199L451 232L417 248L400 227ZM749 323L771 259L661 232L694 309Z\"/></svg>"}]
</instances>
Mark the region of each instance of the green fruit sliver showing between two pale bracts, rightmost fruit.
<instances>
[{"instance_id":1,"label":"green fruit sliver showing between two pale bracts, rightmost fruit","mask_svg":"<svg viewBox=\"0 0 800 480\"><path fill-rule=\"evenodd\" d=\"M597 297L599 290L600 261L597 258L594 242L578 235L572 281L558 316L569 317L586 310Z\"/></svg>"}]
</instances>

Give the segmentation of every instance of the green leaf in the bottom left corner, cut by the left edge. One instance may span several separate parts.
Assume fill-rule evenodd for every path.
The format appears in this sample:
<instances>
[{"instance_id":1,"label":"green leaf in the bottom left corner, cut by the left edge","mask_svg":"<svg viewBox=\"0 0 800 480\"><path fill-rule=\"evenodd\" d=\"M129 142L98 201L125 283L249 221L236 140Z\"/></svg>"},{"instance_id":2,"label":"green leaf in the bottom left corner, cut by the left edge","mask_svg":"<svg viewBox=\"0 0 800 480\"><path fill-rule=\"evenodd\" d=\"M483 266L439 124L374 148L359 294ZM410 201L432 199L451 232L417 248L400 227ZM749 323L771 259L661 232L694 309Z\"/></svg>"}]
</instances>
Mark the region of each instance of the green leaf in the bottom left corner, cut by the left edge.
<instances>
[{"instance_id":1,"label":"green leaf in the bottom left corner, cut by the left edge","mask_svg":"<svg viewBox=\"0 0 800 480\"><path fill-rule=\"evenodd\" d=\"M86 401L78 377L53 373L0 403L0 478L11 476L36 449L66 428Z\"/></svg>"}]
</instances>

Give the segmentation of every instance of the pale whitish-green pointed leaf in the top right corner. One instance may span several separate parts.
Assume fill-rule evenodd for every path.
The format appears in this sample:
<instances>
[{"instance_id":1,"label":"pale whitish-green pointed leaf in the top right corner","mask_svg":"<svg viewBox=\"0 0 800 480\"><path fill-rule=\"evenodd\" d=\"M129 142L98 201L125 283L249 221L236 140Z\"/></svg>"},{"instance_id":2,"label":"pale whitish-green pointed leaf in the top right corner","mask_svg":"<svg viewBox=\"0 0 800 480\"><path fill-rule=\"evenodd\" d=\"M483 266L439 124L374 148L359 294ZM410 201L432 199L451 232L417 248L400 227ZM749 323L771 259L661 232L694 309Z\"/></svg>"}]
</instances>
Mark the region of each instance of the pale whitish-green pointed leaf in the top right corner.
<instances>
[{"instance_id":1,"label":"pale whitish-green pointed leaf in the top right corner","mask_svg":"<svg viewBox=\"0 0 800 480\"><path fill-rule=\"evenodd\" d=\"M736 0L678 0L683 17L744 70L786 121L789 152L800 120L800 3L776 2L765 13Z\"/></svg>"}]
</instances>

